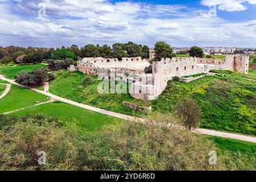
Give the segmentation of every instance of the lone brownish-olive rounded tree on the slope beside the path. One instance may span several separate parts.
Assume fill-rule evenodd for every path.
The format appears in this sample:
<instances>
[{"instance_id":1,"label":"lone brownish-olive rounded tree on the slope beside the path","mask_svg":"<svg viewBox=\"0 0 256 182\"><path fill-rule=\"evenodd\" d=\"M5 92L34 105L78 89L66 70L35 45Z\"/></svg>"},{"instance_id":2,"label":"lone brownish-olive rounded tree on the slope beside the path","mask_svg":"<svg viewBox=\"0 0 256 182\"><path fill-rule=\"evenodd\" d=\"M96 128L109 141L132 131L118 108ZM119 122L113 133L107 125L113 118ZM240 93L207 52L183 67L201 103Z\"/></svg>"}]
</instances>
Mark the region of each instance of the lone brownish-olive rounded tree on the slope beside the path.
<instances>
[{"instance_id":1,"label":"lone brownish-olive rounded tree on the slope beside the path","mask_svg":"<svg viewBox=\"0 0 256 182\"><path fill-rule=\"evenodd\" d=\"M193 98L186 97L181 99L176 106L176 113L188 130L199 127L201 111Z\"/></svg>"}]
</instances>

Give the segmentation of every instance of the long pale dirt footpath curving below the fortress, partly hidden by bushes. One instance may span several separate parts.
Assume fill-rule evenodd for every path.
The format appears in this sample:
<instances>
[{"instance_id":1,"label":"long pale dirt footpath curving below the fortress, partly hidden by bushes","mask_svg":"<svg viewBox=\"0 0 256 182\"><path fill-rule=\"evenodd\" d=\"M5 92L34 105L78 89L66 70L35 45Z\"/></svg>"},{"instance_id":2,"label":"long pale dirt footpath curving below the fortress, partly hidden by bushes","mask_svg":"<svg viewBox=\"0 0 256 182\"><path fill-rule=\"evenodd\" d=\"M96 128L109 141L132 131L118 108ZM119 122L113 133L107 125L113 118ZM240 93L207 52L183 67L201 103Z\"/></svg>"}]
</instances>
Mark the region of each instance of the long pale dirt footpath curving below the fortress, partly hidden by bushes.
<instances>
[{"instance_id":1,"label":"long pale dirt footpath curving below the fortress, partly hidden by bushes","mask_svg":"<svg viewBox=\"0 0 256 182\"><path fill-rule=\"evenodd\" d=\"M44 92L42 90L31 88L29 86L20 85L20 84L16 83L15 80L7 79L7 78L5 78L2 75L0 75L0 79L8 81L11 84L20 86L22 88L27 88L27 89L33 90L33 91L35 91L37 93L44 94L44 95L46 95L48 97L54 98L55 100L59 100L61 102L65 102L67 104L75 105L75 106L78 106L78 107L81 107L81 108L84 108L84 109L87 109L87 110L95 111L97 113L106 114L106 115L110 115L112 117L117 117L117 118L126 119L126 120L130 120L130 121L134 121L134 120L137 120L139 122L144 122L145 121L145 119L143 119L143 118L136 118L136 117L132 117L132 116L126 115L126 114L114 113L112 111L108 111L108 110L104 110L104 109L99 109L97 107L93 107L93 106L89 106L89 105L85 105L85 104L80 104L78 102L67 100L65 98L62 98L62 97L59 97L59 96L55 96L54 94L51 94L51 93L48 93L48 92ZM226 132L214 131L214 130L207 130L207 129L196 129L193 132L194 133L199 133L199 134L205 134L205 135L212 135L212 136L216 136L216 137L231 138L231 139L242 140L242 141L245 141L245 142L256 143L256 137L250 137L250 136L246 136L246 135L232 134L232 133L226 133Z\"/></svg>"}]
</instances>

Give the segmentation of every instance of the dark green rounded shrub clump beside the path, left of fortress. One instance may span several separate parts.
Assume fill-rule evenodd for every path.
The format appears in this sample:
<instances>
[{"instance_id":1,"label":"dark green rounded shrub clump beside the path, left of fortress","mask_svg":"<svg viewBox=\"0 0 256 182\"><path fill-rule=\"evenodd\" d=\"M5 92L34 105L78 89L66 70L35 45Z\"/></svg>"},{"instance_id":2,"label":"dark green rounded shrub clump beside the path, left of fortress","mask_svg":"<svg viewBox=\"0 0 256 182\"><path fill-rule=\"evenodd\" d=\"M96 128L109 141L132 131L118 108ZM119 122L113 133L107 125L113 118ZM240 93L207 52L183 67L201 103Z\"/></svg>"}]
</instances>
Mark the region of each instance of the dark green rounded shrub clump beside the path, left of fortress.
<instances>
[{"instance_id":1,"label":"dark green rounded shrub clump beside the path, left of fortress","mask_svg":"<svg viewBox=\"0 0 256 182\"><path fill-rule=\"evenodd\" d=\"M15 76L16 81L22 85L41 86L43 82L54 79L44 68L36 68L31 72L22 71Z\"/></svg>"}]
</instances>

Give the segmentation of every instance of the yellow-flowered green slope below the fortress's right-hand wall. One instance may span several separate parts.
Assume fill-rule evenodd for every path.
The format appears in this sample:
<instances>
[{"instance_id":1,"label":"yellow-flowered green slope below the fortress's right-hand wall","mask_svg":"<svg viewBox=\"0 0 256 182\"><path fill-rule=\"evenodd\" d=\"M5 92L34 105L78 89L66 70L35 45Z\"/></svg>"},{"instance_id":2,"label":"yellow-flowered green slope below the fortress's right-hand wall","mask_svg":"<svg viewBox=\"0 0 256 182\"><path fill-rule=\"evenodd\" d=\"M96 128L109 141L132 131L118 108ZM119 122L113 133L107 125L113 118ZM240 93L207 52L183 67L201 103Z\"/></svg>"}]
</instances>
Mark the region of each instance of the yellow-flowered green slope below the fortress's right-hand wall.
<instances>
[{"instance_id":1,"label":"yellow-flowered green slope below the fortress's right-hand wall","mask_svg":"<svg viewBox=\"0 0 256 182\"><path fill-rule=\"evenodd\" d=\"M170 112L180 98L191 96L203 113L201 127L256 135L256 82L240 73L219 73L224 77L208 76L189 83L169 81L167 89L153 101L154 110Z\"/></svg>"}]
</instances>

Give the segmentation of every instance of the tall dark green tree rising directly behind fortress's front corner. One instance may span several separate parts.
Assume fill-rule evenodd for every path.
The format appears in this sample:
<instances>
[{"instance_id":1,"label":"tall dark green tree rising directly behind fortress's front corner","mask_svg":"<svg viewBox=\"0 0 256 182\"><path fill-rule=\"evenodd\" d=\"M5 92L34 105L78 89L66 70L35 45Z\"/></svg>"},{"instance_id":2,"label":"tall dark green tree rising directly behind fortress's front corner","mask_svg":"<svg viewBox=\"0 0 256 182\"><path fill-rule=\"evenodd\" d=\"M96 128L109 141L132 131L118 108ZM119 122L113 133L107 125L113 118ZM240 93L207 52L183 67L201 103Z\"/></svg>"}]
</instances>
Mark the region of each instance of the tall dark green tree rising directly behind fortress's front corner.
<instances>
[{"instance_id":1,"label":"tall dark green tree rising directly behind fortress's front corner","mask_svg":"<svg viewBox=\"0 0 256 182\"><path fill-rule=\"evenodd\" d=\"M172 48L165 42L157 42L155 44L155 60L160 61L162 58L173 57Z\"/></svg>"}]
</instances>

